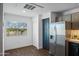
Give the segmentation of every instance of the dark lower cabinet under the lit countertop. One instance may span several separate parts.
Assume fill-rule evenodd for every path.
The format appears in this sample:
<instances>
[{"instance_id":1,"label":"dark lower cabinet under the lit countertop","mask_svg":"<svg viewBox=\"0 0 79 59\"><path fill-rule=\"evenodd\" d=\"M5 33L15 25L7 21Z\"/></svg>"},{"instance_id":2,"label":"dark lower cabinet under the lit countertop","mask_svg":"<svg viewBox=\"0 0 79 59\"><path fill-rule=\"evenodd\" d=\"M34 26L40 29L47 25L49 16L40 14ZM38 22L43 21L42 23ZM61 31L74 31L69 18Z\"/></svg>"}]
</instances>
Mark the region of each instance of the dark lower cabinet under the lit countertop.
<instances>
[{"instance_id":1,"label":"dark lower cabinet under the lit countertop","mask_svg":"<svg viewBox=\"0 0 79 59\"><path fill-rule=\"evenodd\" d=\"M79 56L79 44L69 42L68 55L69 56Z\"/></svg>"}]
</instances>

